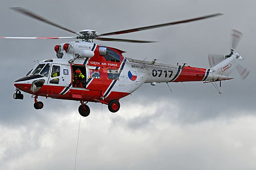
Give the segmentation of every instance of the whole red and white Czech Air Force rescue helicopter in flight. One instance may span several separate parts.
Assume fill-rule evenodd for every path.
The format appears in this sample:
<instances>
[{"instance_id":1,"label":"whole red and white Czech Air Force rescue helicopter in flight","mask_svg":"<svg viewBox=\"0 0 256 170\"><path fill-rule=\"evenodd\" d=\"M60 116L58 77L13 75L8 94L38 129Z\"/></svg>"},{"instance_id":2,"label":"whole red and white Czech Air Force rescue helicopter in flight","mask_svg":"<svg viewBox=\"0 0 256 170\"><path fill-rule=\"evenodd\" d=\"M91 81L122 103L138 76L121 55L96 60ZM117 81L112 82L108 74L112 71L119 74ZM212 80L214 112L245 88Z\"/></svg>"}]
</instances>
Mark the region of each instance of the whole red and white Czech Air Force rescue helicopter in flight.
<instances>
[{"instance_id":1,"label":"whole red and white Czech Air Force rescue helicopter in flight","mask_svg":"<svg viewBox=\"0 0 256 170\"><path fill-rule=\"evenodd\" d=\"M154 42L103 38L102 36L172 26L222 15L220 13L161 25L98 34L93 30L74 32L24 8L15 7L12 9L76 34L74 37L0 37L9 39L77 39L76 41L57 44L54 47L57 58L38 62L25 77L14 82L16 92L13 94L13 98L23 99L24 95L21 91L30 93L34 98L35 109L42 109L44 104L37 101L37 99L38 96L45 96L46 98L79 101L81 105L78 111L82 116L90 114L88 102L106 104L111 112L117 112L120 108L119 100L137 90L143 83L151 83L151 85L155 86L156 83L161 82L221 82L222 80L229 80L228 75L236 67L244 78L249 74L246 68L239 65L243 58L238 53L233 54L242 35L236 30L232 33L231 53L226 56L209 55L209 64L211 66L209 69L185 66L185 64L157 63L156 60L141 61L125 58L122 55L124 51L92 42L93 39L137 43ZM79 78L80 87L75 86L73 82L75 71L78 68L84 76Z\"/></svg>"}]
</instances>

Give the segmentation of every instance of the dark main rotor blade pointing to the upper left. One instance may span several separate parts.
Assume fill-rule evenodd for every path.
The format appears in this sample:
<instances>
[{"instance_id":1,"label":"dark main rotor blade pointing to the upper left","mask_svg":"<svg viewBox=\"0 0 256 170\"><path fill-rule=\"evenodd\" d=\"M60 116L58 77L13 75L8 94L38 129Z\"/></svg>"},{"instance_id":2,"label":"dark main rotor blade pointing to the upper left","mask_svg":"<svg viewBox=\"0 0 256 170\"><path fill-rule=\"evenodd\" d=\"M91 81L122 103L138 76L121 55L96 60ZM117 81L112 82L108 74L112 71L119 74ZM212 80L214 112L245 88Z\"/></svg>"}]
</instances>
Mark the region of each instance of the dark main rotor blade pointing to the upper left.
<instances>
[{"instance_id":1,"label":"dark main rotor blade pointing to the upper left","mask_svg":"<svg viewBox=\"0 0 256 170\"><path fill-rule=\"evenodd\" d=\"M48 19L46 19L46 18L44 18L44 17L42 17L42 16L39 16L39 15L33 13L33 12L30 12L30 11L28 11L27 9L24 9L24 8L21 8L21 7L12 7L12 8L10 8L10 9L15 10L15 11L17 11L17 12L19 12L19 13L22 13L22 14L24 14L24 15L30 16L30 17L32 17L32 18L34 18L34 19L39 20L39 21L48 23L49 25L52 25L52 26L54 26L54 27L60 28L60 29L62 29L62 30L66 30L66 31L71 32L71 33L74 33L74 34L76 34L76 35L79 35L79 34L77 34L75 31L72 31L72 30L67 29L67 28L65 28L65 27L62 27L62 26L60 26L60 25L57 25L57 23L54 23L54 22L52 22L52 21L50 21L50 20L48 20ZM80 36L80 35L79 35L79 36Z\"/></svg>"}]
</instances>

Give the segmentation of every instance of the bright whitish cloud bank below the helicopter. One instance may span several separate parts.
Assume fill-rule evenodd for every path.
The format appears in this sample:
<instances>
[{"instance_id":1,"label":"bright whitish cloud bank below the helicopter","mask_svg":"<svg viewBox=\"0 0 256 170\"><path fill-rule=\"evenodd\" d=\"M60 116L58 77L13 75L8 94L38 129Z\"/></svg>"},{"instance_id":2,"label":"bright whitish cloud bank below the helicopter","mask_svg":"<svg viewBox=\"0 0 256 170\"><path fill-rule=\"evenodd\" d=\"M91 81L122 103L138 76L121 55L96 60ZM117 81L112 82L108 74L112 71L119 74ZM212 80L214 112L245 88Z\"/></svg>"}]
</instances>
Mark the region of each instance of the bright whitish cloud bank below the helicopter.
<instances>
[{"instance_id":1,"label":"bright whitish cloud bank below the helicopter","mask_svg":"<svg viewBox=\"0 0 256 170\"><path fill-rule=\"evenodd\" d=\"M182 124L174 121L175 116L170 121L166 112L155 116L156 104L150 110L125 108L117 115L97 111L82 117L77 169L255 168L255 116L219 116ZM19 128L0 127L1 168L74 167L79 116L72 112L49 119L46 126L35 122Z\"/></svg>"}]
</instances>

